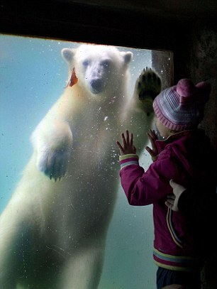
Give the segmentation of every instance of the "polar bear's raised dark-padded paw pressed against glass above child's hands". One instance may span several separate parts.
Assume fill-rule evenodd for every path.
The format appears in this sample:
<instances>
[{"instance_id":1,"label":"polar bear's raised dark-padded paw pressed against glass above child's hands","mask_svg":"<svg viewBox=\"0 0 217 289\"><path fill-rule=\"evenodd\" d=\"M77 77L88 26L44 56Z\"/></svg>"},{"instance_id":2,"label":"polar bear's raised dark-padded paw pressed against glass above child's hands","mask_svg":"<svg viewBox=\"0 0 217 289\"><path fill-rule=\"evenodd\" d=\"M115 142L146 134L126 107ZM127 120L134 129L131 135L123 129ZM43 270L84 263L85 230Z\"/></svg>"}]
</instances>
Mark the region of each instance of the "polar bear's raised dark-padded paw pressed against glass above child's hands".
<instances>
[{"instance_id":1,"label":"polar bear's raised dark-padded paw pressed against glass above child's hands","mask_svg":"<svg viewBox=\"0 0 217 289\"><path fill-rule=\"evenodd\" d=\"M134 97L138 98L147 115L152 113L153 100L160 94L161 89L162 81L157 72L148 67L144 68L135 82Z\"/></svg>"}]
</instances>

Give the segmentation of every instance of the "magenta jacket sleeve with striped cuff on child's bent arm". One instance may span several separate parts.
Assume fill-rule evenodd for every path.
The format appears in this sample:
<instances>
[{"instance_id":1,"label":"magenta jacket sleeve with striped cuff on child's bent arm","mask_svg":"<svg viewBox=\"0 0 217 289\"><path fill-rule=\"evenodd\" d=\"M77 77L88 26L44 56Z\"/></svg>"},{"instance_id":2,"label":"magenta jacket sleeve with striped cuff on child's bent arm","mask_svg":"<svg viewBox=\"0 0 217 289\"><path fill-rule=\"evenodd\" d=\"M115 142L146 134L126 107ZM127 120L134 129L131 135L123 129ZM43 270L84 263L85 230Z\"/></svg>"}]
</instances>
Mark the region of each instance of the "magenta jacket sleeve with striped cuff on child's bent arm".
<instances>
[{"instance_id":1,"label":"magenta jacket sleeve with striped cuff on child's bent arm","mask_svg":"<svg viewBox=\"0 0 217 289\"><path fill-rule=\"evenodd\" d=\"M152 163L146 172L140 167L137 155L121 156L119 160L121 185L130 205L165 202L165 196L172 193L169 180L177 180L179 172L168 157Z\"/></svg>"}]
</instances>

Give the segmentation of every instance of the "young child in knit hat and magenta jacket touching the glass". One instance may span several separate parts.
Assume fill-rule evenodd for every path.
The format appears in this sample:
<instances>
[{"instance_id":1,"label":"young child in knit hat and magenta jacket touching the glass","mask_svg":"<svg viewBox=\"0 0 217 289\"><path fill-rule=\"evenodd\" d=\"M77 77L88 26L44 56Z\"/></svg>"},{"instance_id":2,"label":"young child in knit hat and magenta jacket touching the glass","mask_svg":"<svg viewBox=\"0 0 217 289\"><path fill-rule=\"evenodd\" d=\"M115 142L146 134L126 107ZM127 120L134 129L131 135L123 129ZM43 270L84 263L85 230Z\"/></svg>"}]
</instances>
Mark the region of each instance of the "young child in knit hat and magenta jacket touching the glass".
<instances>
[{"instance_id":1,"label":"young child in knit hat and magenta jacket touching the glass","mask_svg":"<svg viewBox=\"0 0 217 289\"><path fill-rule=\"evenodd\" d=\"M210 84L194 84L187 79L162 91L153 103L156 127L163 140L150 131L152 148L146 148L153 163L145 172L140 167L133 134L122 133L120 149L121 185L130 205L153 204L155 240L153 258L158 266L157 288L180 284L199 289L203 266L187 220L180 212L165 205L172 193L169 180L204 193L214 186L213 151L204 131L197 129L204 117L204 104L211 92Z\"/></svg>"}]
</instances>

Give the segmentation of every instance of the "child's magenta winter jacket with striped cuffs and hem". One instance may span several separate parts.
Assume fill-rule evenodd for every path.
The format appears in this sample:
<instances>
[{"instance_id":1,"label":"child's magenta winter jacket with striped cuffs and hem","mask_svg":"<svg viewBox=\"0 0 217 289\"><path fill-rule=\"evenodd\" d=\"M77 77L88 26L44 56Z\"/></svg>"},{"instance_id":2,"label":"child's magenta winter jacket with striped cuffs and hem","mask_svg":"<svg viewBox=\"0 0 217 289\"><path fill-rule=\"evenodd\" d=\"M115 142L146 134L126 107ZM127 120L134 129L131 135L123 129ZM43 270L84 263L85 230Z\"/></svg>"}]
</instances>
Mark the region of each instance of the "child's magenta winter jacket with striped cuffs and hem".
<instances>
[{"instance_id":1,"label":"child's magenta winter jacket with striped cuffs and hem","mask_svg":"<svg viewBox=\"0 0 217 289\"><path fill-rule=\"evenodd\" d=\"M213 180L212 148L204 131L184 131L165 141L156 141L158 157L145 172L137 155L120 156L121 185L130 205L153 205L155 240L153 258L157 266L177 271L201 269L201 258L187 231L182 213L165 205L172 193L169 180L185 187L208 187Z\"/></svg>"}]
</instances>

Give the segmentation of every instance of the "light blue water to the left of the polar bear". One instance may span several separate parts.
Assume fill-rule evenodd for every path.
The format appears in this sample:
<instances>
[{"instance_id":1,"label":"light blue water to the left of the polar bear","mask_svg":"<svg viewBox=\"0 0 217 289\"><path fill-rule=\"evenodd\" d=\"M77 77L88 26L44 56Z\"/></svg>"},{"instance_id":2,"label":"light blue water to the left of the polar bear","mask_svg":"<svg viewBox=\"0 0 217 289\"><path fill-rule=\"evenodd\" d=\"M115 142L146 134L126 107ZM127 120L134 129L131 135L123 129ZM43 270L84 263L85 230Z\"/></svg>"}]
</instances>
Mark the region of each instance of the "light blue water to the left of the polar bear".
<instances>
[{"instance_id":1,"label":"light blue water to the left of the polar bear","mask_svg":"<svg viewBox=\"0 0 217 289\"><path fill-rule=\"evenodd\" d=\"M62 94L67 65L52 40L0 37L0 211L32 153L30 134Z\"/></svg>"}]
</instances>

